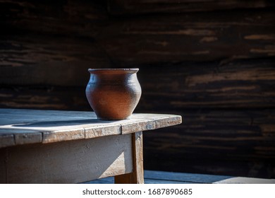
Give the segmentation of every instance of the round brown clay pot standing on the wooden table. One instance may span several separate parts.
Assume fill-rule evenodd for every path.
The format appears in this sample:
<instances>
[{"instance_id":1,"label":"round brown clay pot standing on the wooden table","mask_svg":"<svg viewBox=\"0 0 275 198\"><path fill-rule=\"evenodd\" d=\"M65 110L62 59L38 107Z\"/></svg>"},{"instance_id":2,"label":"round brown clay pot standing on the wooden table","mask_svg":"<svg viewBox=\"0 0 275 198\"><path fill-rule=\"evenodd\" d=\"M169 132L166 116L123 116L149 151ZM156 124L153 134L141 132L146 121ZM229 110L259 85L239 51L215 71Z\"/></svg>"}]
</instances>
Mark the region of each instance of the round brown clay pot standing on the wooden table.
<instances>
[{"instance_id":1,"label":"round brown clay pot standing on the wooden table","mask_svg":"<svg viewBox=\"0 0 275 198\"><path fill-rule=\"evenodd\" d=\"M100 120L125 120L140 100L139 69L88 69L87 100Z\"/></svg>"}]
</instances>

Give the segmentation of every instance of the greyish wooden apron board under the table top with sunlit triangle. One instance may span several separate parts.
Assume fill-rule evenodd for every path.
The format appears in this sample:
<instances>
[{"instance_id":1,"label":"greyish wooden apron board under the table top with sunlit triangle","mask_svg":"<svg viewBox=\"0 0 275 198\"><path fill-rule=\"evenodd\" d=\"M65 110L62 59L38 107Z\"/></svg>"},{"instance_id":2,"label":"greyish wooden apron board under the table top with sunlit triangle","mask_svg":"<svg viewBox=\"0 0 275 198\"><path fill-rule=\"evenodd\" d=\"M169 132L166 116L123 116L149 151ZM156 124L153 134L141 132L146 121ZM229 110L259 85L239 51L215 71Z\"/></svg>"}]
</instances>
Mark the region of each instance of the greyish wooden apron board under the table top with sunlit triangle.
<instances>
[{"instance_id":1,"label":"greyish wooden apron board under the table top with sunlit triangle","mask_svg":"<svg viewBox=\"0 0 275 198\"><path fill-rule=\"evenodd\" d=\"M1 169L0 175L7 171L8 183L72 183L130 173L131 141L129 134L13 146L6 150L8 168Z\"/></svg>"}]
</instances>

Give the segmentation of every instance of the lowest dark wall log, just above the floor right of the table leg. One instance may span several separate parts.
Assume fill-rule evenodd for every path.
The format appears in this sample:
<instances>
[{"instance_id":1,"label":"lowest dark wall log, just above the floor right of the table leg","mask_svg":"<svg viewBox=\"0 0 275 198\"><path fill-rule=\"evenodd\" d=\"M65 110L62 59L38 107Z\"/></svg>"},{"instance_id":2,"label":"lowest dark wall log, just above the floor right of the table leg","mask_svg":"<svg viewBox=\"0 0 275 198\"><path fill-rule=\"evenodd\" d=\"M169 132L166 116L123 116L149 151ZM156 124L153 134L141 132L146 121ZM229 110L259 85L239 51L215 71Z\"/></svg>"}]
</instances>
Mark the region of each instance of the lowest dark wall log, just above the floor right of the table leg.
<instances>
[{"instance_id":1,"label":"lowest dark wall log, just above the floor right of the table leg","mask_svg":"<svg viewBox=\"0 0 275 198\"><path fill-rule=\"evenodd\" d=\"M171 158L159 153L147 155L145 152L145 170L161 170L180 173L202 173L209 175L231 175L236 177L258 177L273 179L274 163L265 161L227 161L219 158ZM149 153L151 154L151 153Z\"/></svg>"}]
</instances>

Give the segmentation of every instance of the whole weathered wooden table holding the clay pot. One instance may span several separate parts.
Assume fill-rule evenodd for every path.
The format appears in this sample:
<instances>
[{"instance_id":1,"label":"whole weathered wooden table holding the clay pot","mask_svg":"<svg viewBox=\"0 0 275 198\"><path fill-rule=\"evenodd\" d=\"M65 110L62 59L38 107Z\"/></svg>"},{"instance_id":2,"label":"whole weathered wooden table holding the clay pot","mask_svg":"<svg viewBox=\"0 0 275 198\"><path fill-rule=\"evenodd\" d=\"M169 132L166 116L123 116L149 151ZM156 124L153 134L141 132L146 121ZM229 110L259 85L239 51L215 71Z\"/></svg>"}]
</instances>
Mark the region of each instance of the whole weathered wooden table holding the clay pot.
<instances>
[{"instance_id":1,"label":"whole weathered wooden table holding the clay pot","mask_svg":"<svg viewBox=\"0 0 275 198\"><path fill-rule=\"evenodd\" d=\"M0 183L143 183L142 131L175 124L181 116L0 109Z\"/></svg>"}]
</instances>

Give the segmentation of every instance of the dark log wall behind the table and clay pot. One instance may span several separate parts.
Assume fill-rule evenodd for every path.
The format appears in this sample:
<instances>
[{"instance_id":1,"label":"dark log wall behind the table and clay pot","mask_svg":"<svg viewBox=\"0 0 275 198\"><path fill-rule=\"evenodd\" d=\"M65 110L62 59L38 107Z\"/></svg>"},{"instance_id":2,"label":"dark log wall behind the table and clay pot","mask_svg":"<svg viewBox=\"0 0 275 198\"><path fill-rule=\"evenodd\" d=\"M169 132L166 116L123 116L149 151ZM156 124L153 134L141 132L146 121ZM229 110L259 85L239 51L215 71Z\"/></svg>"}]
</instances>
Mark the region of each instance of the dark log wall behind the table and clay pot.
<instances>
[{"instance_id":1,"label":"dark log wall behind the table and clay pot","mask_svg":"<svg viewBox=\"0 0 275 198\"><path fill-rule=\"evenodd\" d=\"M275 177L275 1L0 0L0 107L91 110L88 68L138 67L145 169Z\"/></svg>"}]
</instances>

